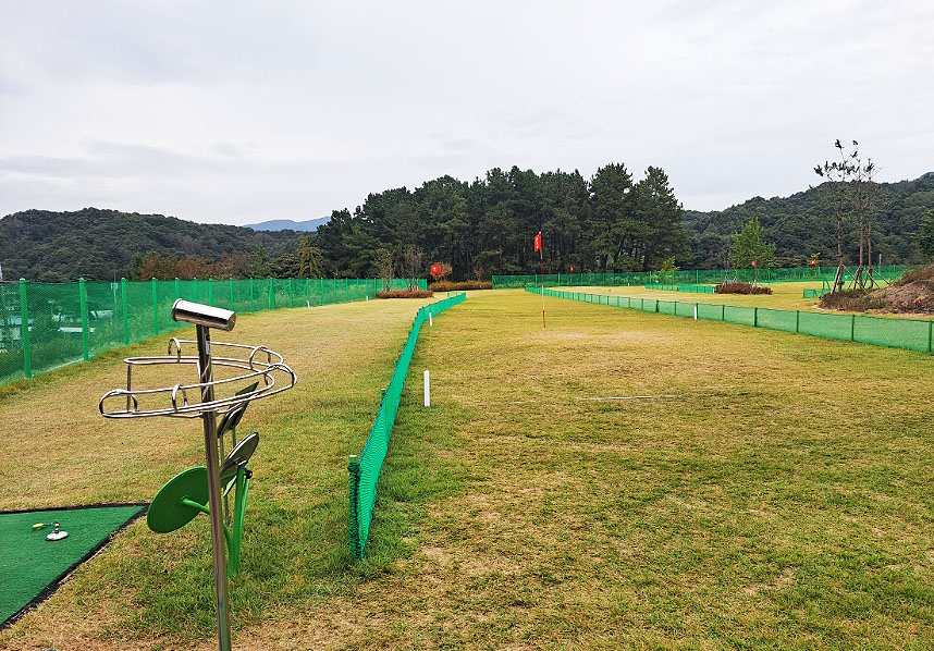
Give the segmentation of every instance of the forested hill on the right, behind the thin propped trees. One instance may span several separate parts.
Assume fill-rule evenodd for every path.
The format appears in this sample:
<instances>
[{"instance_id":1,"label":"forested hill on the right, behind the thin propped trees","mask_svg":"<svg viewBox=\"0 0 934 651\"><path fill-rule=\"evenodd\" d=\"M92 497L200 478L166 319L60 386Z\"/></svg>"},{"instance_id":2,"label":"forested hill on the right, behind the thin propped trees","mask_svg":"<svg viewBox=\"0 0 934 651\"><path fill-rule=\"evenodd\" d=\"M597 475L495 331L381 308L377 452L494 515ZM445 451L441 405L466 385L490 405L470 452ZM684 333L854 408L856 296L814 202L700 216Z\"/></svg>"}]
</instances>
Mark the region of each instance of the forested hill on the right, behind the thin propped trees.
<instances>
[{"instance_id":1,"label":"forested hill on the right, behind the thin propped trees","mask_svg":"<svg viewBox=\"0 0 934 651\"><path fill-rule=\"evenodd\" d=\"M914 263L924 260L917 234L921 218L934 209L934 174L913 181L878 184L873 212L873 259L882 262ZM724 266L730 233L737 232L753 217L762 224L762 235L774 243L776 265L797 267L813 255L823 260L836 259L834 224L820 194L811 188L790 197L763 199L754 197L726 210L685 211L685 225L690 234L693 267L715 269ZM851 230L853 224L850 224ZM859 257L856 232L846 237L850 260Z\"/></svg>"}]
</instances>

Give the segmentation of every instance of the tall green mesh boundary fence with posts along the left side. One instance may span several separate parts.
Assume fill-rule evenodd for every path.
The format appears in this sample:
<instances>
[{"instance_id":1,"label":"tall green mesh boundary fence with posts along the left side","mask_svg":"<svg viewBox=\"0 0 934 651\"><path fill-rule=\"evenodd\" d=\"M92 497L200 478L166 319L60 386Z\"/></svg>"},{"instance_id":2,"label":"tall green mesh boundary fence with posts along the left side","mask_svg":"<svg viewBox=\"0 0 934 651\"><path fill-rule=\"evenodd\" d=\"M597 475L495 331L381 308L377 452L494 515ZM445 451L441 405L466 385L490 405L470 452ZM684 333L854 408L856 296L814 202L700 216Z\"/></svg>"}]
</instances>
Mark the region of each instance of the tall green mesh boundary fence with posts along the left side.
<instances>
[{"instance_id":1,"label":"tall green mesh boundary fence with posts along the left side","mask_svg":"<svg viewBox=\"0 0 934 651\"><path fill-rule=\"evenodd\" d=\"M0 384L183 328L172 320L176 298L244 314L365 300L383 287L382 279L308 278L0 283Z\"/></svg>"}]
</instances>

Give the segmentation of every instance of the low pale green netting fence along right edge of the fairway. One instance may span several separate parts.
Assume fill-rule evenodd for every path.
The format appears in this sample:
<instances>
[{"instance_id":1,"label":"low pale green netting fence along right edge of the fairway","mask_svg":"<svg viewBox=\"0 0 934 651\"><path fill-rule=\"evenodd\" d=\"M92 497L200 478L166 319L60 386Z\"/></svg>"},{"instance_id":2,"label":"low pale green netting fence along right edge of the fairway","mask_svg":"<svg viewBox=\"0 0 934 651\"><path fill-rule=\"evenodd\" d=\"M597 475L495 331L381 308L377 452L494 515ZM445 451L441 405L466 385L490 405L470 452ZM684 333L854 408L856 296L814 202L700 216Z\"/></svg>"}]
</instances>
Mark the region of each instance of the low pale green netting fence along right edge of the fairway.
<instances>
[{"instance_id":1,"label":"low pale green netting fence along right edge of the fairway","mask_svg":"<svg viewBox=\"0 0 934 651\"><path fill-rule=\"evenodd\" d=\"M541 287L526 287L527 292L540 294ZM798 332L838 339L876 346L932 352L934 321L921 319L886 319L860 315L829 315L800 310L771 309L764 307L738 307L712 303L688 303L681 300L658 300L655 298L630 298L606 294L585 294L544 290L545 296L569 298L585 303L626 307L662 315L741 323L753 328L767 328L785 332Z\"/></svg>"}]
</instances>

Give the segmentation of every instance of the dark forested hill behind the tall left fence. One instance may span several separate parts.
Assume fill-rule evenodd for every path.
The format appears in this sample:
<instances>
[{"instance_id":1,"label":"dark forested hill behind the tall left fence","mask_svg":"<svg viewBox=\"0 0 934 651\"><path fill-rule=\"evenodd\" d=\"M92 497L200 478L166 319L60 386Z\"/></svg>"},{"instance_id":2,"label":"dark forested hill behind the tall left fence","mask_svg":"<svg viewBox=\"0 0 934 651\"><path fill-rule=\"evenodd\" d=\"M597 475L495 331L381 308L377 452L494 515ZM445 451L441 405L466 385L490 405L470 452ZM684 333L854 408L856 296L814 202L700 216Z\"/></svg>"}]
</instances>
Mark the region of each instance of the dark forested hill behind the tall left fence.
<instances>
[{"instance_id":1,"label":"dark forested hill behind the tall left fence","mask_svg":"<svg viewBox=\"0 0 934 651\"><path fill-rule=\"evenodd\" d=\"M294 249L298 236L98 208L26 210L0 220L0 265L7 280L112 280L130 278L134 254L219 260L266 249L274 257Z\"/></svg>"}]
</instances>

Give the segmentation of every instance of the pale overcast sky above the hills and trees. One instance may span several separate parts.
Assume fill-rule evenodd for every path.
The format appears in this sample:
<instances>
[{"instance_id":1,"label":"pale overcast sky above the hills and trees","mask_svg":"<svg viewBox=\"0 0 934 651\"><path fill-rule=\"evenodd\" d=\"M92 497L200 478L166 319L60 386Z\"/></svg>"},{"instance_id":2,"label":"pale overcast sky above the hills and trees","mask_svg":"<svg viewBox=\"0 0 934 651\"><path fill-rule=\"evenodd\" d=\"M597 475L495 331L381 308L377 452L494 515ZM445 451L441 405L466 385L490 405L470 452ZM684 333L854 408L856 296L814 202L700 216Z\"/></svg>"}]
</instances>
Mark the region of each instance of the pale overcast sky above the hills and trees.
<instances>
[{"instance_id":1,"label":"pale overcast sky above the hills and trees","mask_svg":"<svg viewBox=\"0 0 934 651\"><path fill-rule=\"evenodd\" d=\"M494 167L663 168L686 208L858 139L934 171L934 2L0 0L0 216L245 224Z\"/></svg>"}]
</instances>

